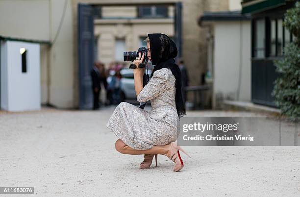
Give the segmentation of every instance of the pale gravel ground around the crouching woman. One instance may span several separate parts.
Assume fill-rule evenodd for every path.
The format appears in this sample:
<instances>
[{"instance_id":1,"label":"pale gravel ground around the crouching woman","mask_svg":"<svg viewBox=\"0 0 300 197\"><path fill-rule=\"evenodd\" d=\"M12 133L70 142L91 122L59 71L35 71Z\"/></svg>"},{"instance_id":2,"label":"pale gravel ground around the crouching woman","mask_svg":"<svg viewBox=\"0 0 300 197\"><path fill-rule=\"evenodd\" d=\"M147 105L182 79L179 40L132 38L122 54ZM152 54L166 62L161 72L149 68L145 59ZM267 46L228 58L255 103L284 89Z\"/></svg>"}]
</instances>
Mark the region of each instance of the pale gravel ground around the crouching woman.
<instances>
[{"instance_id":1,"label":"pale gravel ground around the crouching woman","mask_svg":"<svg viewBox=\"0 0 300 197\"><path fill-rule=\"evenodd\" d=\"M113 110L1 111L0 186L34 186L43 197L300 196L299 147L184 147L192 157L182 155L180 172L162 155L158 167L140 170L142 155L114 149L117 137L106 128Z\"/></svg>"}]
</instances>

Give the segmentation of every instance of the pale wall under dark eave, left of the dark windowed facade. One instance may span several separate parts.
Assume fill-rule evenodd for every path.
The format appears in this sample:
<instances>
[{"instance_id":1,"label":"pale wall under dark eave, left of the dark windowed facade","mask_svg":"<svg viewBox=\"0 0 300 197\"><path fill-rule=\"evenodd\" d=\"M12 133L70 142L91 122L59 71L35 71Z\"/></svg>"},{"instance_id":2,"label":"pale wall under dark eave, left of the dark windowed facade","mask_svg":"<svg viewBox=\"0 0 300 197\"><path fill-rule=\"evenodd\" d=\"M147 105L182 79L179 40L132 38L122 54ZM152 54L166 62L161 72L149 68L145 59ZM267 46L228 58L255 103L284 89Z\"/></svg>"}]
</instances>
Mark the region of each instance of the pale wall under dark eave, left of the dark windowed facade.
<instances>
[{"instance_id":1,"label":"pale wall under dark eave, left of the dark windowed facade","mask_svg":"<svg viewBox=\"0 0 300 197\"><path fill-rule=\"evenodd\" d=\"M217 94L223 95L224 99L250 101L250 21L214 24L213 105Z\"/></svg>"}]
</instances>

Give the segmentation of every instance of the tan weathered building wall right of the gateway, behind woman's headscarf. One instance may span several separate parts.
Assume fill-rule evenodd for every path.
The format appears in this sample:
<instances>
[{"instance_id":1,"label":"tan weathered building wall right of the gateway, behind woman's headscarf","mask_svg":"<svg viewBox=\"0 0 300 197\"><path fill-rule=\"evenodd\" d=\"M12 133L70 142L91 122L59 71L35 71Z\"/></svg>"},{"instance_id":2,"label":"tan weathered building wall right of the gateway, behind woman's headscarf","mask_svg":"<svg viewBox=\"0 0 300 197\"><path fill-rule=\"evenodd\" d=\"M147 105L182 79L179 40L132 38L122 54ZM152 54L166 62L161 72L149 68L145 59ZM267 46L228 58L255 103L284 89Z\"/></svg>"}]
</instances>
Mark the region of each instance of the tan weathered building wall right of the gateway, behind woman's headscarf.
<instances>
[{"instance_id":1,"label":"tan weathered building wall right of the gateway, behind woman's headscarf","mask_svg":"<svg viewBox=\"0 0 300 197\"><path fill-rule=\"evenodd\" d=\"M189 85L201 85L201 75L208 67L208 28L199 26L198 20L204 11L228 10L228 0L184 0L182 6L182 57L190 77ZM189 93L188 99L192 98L192 93Z\"/></svg>"}]
</instances>

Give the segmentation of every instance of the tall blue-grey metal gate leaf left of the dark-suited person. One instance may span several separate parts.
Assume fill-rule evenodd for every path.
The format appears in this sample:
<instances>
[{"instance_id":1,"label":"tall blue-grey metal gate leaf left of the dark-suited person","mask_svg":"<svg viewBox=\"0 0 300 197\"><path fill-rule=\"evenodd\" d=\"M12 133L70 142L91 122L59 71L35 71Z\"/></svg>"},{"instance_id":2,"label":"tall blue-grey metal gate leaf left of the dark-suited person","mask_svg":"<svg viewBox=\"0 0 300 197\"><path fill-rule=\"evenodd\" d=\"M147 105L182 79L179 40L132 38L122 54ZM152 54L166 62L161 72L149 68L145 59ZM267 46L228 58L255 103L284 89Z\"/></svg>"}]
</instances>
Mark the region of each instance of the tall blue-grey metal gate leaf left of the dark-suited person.
<instances>
[{"instance_id":1,"label":"tall blue-grey metal gate leaf left of the dark-suited person","mask_svg":"<svg viewBox=\"0 0 300 197\"><path fill-rule=\"evenodd\" d=\"M78 4L78 80L79 109L93 107L92 79L94 64L94 16L93 7Z\"/></svg>"}]
</instances>

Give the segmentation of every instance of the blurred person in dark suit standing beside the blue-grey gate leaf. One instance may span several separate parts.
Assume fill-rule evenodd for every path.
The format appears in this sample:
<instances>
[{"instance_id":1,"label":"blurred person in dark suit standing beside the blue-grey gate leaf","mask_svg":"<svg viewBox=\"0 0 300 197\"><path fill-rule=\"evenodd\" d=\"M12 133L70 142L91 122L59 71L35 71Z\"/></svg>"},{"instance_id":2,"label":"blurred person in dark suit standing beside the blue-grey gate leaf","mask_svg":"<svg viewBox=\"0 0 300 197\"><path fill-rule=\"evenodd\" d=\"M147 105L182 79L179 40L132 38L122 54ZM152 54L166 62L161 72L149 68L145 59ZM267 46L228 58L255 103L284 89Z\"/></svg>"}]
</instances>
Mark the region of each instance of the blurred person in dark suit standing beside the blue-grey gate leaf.
<instances>
[{"instance_id":1,"label":"blurred person in dark suit standing beside the blue-grey gate leaf","mask_svg":"<svg viewBox=\"0 0 300 197\"><path fill-rule=\"evenodd\" d=\"M94 105L93 109L99 109L99 94L100 94L100 64L99 62L94 63L94 67L91 70L92 77L92 90L94 95Z\"/></svg>"}]
</instances>

